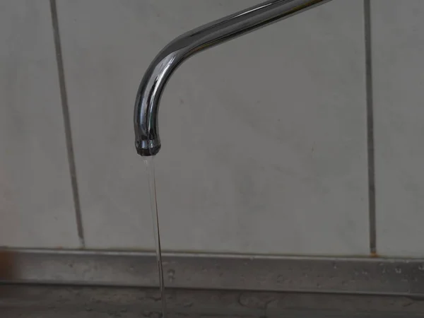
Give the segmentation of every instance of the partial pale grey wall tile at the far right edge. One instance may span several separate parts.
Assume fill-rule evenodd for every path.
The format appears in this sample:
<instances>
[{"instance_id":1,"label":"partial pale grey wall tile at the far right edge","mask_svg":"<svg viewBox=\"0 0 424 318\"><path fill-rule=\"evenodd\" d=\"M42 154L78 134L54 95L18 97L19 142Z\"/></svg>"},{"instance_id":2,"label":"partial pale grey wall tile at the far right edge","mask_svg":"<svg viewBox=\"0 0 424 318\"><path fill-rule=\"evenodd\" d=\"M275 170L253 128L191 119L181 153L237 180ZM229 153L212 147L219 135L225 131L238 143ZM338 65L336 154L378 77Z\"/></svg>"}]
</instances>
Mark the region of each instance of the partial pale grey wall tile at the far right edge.
<instances>
[{"instance_id":1,"label":"partial pale grey wall tile at the far right edge","mask_svg":"<svg viewBox=\"0 0 424 318\"><path fill-rule=\"evenodd\" d=\"M371 1L377 252L424 254L424 2Z\"/></svg>"}]
</instances>

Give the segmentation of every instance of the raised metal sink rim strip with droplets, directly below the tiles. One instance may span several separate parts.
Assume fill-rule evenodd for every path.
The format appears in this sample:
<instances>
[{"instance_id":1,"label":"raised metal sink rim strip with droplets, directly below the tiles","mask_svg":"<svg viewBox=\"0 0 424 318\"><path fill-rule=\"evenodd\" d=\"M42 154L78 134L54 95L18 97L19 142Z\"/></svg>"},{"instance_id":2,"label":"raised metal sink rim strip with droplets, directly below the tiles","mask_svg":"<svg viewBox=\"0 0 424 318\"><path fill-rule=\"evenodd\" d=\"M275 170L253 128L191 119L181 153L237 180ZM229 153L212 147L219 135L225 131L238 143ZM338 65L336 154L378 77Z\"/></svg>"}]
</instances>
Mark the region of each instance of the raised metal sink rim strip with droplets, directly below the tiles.
<instances>
[{"instance_id":1,"label":"raised metal sink rim strip with droplets, directly below the tiles","mask_svg":"<svg viewBox=\"0 0 424 318\"><path fill-rule=\"evenodd\" d=\"M1 254L1 250L0 250ZM8 250L4 283L158 285L155 254ZM167 288L424 296L423 259L164 254Z\"/></svg>"}]
</instances>

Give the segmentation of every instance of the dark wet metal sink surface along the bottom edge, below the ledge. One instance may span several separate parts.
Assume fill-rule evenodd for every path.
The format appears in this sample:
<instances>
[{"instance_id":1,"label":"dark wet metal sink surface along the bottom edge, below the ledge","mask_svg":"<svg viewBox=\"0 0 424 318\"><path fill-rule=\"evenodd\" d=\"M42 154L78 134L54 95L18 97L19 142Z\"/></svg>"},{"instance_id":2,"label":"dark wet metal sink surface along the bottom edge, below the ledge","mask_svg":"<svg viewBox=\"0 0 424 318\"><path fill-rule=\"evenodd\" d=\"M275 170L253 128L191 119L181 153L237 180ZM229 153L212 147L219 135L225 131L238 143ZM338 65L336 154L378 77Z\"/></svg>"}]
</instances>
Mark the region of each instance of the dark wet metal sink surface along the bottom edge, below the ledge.
<instances>
[{"instance_id":1,"label":"dark wet metal sink surface along the bottom edge, below the ledge","mask_svg":"<svg viewBox=\"0 0 424 318\"><path fill-rule=\"evenodd\" d=\"M158 289L0 285L0 317L159 317ZM393 296L168 290L170 317L424 317Z\"/></svg>"}]
</instances>

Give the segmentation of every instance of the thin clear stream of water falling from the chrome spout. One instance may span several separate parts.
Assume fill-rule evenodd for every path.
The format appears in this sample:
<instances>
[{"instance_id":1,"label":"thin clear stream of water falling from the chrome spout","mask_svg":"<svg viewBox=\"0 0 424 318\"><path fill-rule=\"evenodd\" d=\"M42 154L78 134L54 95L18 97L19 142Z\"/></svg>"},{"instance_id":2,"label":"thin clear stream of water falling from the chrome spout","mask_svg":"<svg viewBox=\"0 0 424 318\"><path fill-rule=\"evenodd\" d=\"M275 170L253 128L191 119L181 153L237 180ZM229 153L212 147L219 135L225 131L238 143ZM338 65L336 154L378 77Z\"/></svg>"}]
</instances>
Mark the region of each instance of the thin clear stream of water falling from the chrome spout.
<instances>
[{"instance_id":1,"label":"thin clear stream of water falling from the chrome spout","mask_svg":"<svg viewBox=\"0 0 424 318\"><path fill-rule=\"evenodd\" d=\"M163 283L162 250L160 248L158 201L156 200L155 163L153 158L154 158L153 155L148 157L143 157L144 162L146 163L148 191L151 197L151 214L152 214L152 220L153 220L153 234L155 237L156 260L158 261L160 298L162 300L162 317L166 318L167 310L166 310L166 298L165 298L165 285Z\"/></svg>"}]
</instances>

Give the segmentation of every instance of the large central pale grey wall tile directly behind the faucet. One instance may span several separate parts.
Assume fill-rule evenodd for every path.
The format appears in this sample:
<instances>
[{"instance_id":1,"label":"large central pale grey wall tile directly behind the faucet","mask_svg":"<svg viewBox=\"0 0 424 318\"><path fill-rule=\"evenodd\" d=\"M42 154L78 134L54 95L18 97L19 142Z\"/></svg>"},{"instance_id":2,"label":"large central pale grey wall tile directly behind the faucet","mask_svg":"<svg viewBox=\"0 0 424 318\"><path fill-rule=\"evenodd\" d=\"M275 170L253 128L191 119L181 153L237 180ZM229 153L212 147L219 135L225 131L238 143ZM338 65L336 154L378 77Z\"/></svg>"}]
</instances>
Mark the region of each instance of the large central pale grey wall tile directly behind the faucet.
<instances>
[{"instance_id":1,"label":"large central pale grey wall tile directly behind the faucet","mask_svg":"<svg viewBox=\"0 0 424 318\"><path fill-rule=\"evenodd\" d=\"M257 2L59 1L88 247L153 247L132 125L151 59ZM362 1L333 1L178 69L156 158L165 249L367 254L363 33Z\"/></svg>"}]
</instances>

